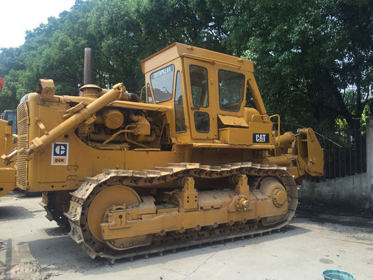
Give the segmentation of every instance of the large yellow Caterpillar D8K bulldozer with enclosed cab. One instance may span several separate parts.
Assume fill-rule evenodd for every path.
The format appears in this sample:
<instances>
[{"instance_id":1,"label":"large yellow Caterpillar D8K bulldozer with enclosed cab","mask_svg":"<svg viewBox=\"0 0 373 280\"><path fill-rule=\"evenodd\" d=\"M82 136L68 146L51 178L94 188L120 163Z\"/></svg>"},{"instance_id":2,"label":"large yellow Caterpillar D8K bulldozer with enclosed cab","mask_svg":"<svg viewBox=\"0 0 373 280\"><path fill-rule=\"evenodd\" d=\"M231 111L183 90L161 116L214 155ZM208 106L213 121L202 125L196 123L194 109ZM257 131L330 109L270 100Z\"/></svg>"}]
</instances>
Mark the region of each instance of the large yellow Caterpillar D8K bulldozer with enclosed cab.
<instances>
[{"instance_id":1,"label":"large yellow Caterpillar D8K bulldozer with enclosed cab","mask_svg":"<svg viewBox=\"0 0 373 280\"><path fill-rule=\"evenodd\" d=\"M311 128L280 134L253 62L174 43L141 67L146 102L122 83L87 83L74 97L39 80L17 107L17 148L1 157L6 165L16 158L17 174L1 179L43 192L47 218L69 226L92 258L147 256L287 225L302 177L323 174L323 151Z\"/></svg>"}]
</instances>

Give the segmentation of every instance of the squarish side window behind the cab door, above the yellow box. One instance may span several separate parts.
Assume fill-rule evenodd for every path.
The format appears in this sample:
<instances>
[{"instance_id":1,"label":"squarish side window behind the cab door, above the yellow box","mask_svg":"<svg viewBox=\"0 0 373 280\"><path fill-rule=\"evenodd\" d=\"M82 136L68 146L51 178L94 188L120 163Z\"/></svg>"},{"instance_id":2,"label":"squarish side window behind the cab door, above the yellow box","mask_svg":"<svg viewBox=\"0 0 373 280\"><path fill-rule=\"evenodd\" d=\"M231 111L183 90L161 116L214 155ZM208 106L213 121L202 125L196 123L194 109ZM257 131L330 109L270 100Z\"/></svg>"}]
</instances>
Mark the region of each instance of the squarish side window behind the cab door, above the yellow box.
<instances>
[{"instance_id":1,"label":"squarish side window behind the cab door, above the yellow box","mask_svg":"<svg viewBox=\"0 0 373 280\"><path fill-rule=\"evenodd\" d=\"M245 76L241 73L219 69L219 104L225 111L239 111L244 99Z\"/></svg>"}]
</instances>

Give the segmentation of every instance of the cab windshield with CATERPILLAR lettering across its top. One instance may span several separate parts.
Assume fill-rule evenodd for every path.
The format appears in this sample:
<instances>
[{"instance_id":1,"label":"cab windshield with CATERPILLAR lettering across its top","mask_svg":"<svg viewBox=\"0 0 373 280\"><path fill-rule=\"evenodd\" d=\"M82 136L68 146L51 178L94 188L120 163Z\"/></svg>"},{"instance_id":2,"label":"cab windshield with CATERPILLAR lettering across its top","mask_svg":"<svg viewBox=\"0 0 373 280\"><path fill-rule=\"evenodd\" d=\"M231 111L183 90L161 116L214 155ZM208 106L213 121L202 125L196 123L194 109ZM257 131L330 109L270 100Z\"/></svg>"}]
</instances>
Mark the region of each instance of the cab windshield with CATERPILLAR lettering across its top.
<instances>
[{"instance_id":1,"label":"cab windshield with CATERPILLAR lettering across its top","mask_svg":"<svg viewBox=\"0 0 373 280\"><path fill-rule=\"evenodd\" d=\"M175 66L171 64L150 75L150 83L156 103L164 102L172 98L174 72Z\"/></svg>"}]
</instances>

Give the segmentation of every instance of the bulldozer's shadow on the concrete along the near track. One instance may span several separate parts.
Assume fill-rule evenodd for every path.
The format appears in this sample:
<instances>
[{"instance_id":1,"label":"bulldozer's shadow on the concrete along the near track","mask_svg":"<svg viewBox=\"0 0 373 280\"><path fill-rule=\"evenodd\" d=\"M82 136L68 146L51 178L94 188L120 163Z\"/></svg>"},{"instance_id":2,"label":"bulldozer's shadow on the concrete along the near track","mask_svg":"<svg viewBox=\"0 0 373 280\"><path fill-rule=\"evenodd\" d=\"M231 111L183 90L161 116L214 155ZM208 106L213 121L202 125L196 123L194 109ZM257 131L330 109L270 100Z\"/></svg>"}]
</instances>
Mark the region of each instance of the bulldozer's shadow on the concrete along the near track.
<instances>
[{"instance_id":1,"label":"bulldozer's shadow on the concrete along the near track","mask_svg":"<svg viewBox=\"0 0 373 280\"><path fill-rule=\"evenodd\" d=\"M47 232L47 231L45 231ZM157 265L169 262L169 260L192 258L196 255L204 255L215 253L223 250L230 250L239 247L251 246L253 244L263 244L268 241L292 237L295 235L302 235L309 232L309 230L300 226L288 225L283 228L281 232L274 234L265 234L262 237L245 238L235 241L225 241L225 243L213 243L212 245L191 246L189 250L180 249L176 253L164 252L162 257L157 254L150 255L150 258L137 257L134 261L129 259L116 260L114 265L110 265L108 260L103 258L96 258L92 260L85 252L76 244L70 237L66 236L64 230L58 228L50 229L50 235L57 235L60 232L63 236L52 237L50 239L39 239L30 242L24 242L17 245L27 244L29 251L35 260L40 263L45 271L66 271L76 270L85 275L97 275L112 273L116 271L124 271L136 267L143 267L148 265ZM47 232L48 233L48 232ZM110 269L100 269L102 267L110 267Z\"/></svg>"}]
</instances>

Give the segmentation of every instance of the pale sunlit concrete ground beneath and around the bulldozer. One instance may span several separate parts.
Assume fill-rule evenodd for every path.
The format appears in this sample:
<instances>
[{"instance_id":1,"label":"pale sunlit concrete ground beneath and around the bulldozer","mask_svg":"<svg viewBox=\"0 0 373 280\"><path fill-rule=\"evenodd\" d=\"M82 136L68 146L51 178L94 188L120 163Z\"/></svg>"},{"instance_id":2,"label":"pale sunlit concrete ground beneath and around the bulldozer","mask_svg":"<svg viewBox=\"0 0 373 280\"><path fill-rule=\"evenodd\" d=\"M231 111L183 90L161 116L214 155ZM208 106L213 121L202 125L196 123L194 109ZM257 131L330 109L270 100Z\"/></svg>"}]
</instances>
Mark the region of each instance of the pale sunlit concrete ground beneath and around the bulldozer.
<instances>
[{"instance_id":1,"label":"pale sunlit concrete ground beneath and around the bulldozer","mask_svg":"<svg viewBox=\"0 0 373 280\"><path fill-rule=\"evenodd\" d=\"M321 280L324 269L373 279L371 214L300 207L280 233L110 265L90 259L67 232L48 221L40 200L19 193L0 198L0 279Z\"/></svg>"}]
</instances>

